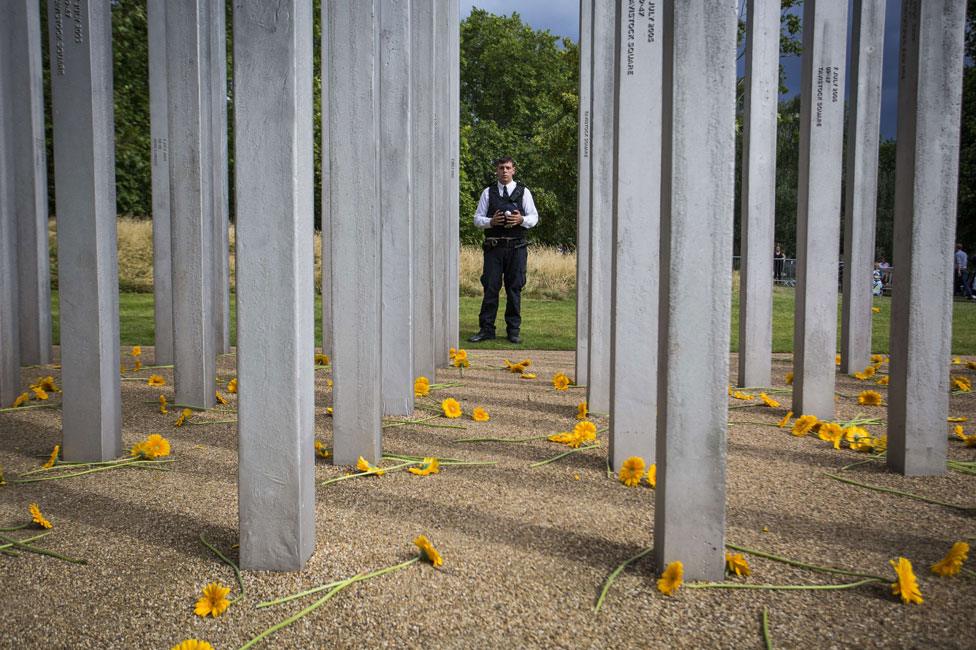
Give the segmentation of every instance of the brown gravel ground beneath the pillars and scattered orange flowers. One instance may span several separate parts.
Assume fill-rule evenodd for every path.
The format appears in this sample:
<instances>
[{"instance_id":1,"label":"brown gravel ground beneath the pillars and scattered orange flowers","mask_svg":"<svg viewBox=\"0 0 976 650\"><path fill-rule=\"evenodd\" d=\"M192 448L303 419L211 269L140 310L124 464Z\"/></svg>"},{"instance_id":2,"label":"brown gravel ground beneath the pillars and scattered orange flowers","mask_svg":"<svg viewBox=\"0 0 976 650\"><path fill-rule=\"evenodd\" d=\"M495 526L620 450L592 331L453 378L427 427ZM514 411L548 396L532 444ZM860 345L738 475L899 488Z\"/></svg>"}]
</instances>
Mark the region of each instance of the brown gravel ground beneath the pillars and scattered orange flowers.
<instances>
[{"instance_id":1,"label":"brown gravel ground beneath the pillars and scattered orange flowers","mask_svg":"<svg viewBox=\"0 0 976 650\"><path fill-rule=\"evenodd\" d=\"M865 456L768 426L785 408L730 411L728 540L892 581L888 561L904 556L915 566L925 603L903 605L887 584L845 591L683 588L667 597L655 589L649 555L621 574L603 609L594 613L610 571L651 543L654 491L646 484L626 488L607 478L605 434L603 449L537 469L528 465L565 448L547 441L455 442L463 436L555 433L575 423L584 390L557 392L549 381L557 371L571 374L572 353L520 354L532 359L535 380L498 369L502 354L470 353L475 367L464 372L464 385L434 393L461 402L462 420L437 422L457 423L464 431L389 428L384 440L385 450L393 453L485 459L497 465L447 467L429 477L397 471L319 487L316 552L307 567L288 574L246 573L246 598L216 619L193 614L202 587L216 580L232 587L231 596L238 590L231 570L197 537L204 533L236 558L236 426L174 428L175 412L161 415L146 403L160 393L172 398L171 371L161 372L167 380L163 388L124 381L126 447L147 433L163 433L173 445L172 471L120 469L0 488L0 526L24 522L27 505L37 502L54 524L54 534L39 544L89 560L76 566L33 554L0 556L0 648L169 648L187 638L205 639L218 650L238 648L312 599L267 609L256 609L258 602L409 559L416 552L411 540L420 533L443 554L441 570L416 564L354 585L261 647L758 648L764 608L775 643L783 647L976 645L976 577L939 578L928 570L953 542L976 538L972 514L826 478L825 471ZM151 348L144 357L152 359ZM790 359L779 355L774 363L774 377L784 387ZM954 371L973 374L961 368ZM224 381L233 375L232 356L222 358L220 372ZM25 369L25 386L42 374L57 377L57 370ZM319 439L330 444L327 375L317 373L316 427ZM440 382L457 378L453 369L437 377ZM838 416L860 412L883 418L882 407L859 407L854 399L869 387L886 392L839 375ZM775 397L788 405L788 395ZM231 396L231 406L235 400ZM974 404L973 394L950 400L952 415L970 418L967 432L976 426ZM472 421L475 406L487 408L491 421ZM227 417L233 413L201 414L195 420ZM606 426L606 417L594 421ZM764 424L735 424L743 421ZM44 462L58 442L58 410L0 413L0 466L8 480ZM973 460L976 449L952 442L950 457ZM347 470L320 459L316 478L323 481ZM903 478L881 464L845 474L976 505L973 476ZM967 563L970 569L976 567L974 555ZM847 581L761 558L749 561L752 576L739 582Z\"/></svg>"}]
</instances>

